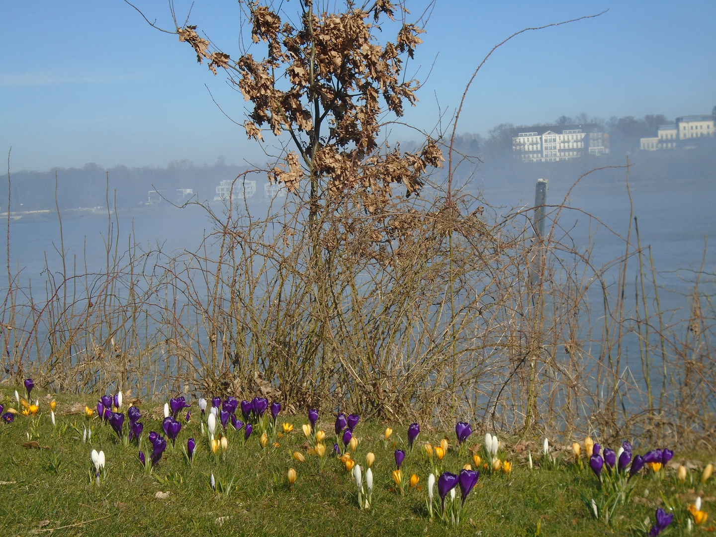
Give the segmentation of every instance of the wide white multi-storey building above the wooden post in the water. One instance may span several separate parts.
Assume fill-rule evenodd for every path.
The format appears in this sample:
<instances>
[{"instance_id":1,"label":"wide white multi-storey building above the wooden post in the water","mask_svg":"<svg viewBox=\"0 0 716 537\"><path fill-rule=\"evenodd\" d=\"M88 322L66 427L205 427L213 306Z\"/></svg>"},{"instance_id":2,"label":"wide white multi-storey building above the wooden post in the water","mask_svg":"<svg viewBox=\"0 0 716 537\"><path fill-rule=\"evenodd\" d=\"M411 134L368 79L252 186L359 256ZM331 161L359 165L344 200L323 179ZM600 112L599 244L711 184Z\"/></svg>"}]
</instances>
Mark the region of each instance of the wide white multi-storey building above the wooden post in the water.
<instances>
[{"instance_id":1,"label":"wide white multi-storey building above the wooden post in the water","mask_svg":"<svg viewBox=\"0 0 716 537\"><path fill-rule=\"evenodd\" d=\"M609 153L609 134L596 123L528 127L512 138L515 158L526 163L558 162Z\"/></svg>"}]
</instances>

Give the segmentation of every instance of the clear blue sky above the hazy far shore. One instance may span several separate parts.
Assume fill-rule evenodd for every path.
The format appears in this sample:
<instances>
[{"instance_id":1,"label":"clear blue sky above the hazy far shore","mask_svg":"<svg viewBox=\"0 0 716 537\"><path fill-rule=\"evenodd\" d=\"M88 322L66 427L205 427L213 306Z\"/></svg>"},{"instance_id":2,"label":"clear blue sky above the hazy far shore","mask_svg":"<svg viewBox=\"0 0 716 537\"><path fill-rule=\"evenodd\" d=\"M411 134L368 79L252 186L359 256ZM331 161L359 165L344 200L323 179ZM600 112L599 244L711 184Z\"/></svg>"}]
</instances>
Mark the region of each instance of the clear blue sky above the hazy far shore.
<instances>
[{"instance_id":1,"label":"clear blue sky above the hazy far shore","mask_svg":"<svg viewBox=\"0 0 716 537\"><path fill-rule=\"evenodd\" d=\"M427 2L408 2L412 14ZM137 0L172 26L167 2ZM175 1L183 16L189 1ZM294 2L284 4L294 6ZM454 110L491 47L526 26L609 11L528 32L498 49L470 88L458 132L560 115L707 114L716 105L716 2L437 0L409 72L423 78L405 120L430 130ZM237 52L235 1L196 0L190 22ZM196 63L177 37L120 0L0 4L0 150L11 171L53 166L164 166L172 160L257 162L263 153L211 101L243 120L243 98ZM387 33L387 32L386 32ZM257 54L258 52L254 52ZM434 65L433 65L433 62ZM449 112L448 112L449 115ZM395 127L395 140L415 138Z\"/></svg>"}]
</instances>

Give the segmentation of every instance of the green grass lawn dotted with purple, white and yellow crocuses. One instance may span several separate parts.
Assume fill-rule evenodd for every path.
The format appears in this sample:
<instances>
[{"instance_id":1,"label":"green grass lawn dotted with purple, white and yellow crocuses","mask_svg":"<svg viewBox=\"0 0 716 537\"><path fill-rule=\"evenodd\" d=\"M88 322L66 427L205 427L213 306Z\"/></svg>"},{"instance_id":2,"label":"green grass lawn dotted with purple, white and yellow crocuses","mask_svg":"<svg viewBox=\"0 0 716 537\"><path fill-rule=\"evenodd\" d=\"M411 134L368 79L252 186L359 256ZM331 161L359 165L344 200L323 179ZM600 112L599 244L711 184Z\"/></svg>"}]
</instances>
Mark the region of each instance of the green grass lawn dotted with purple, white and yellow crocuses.
<instances>
[{"instance_id":1,"label":"green grass lawn dotted with purple, white and yellow crocuses","mask_svg":"<svg viewBox=\"0 0 716 537\"><path fill-rule=\"evenodd\" d=\"M47 403L41 400L36 418L38 436L34 440L49 449L23 447L29 417L17 415L11 425L0 423L0 536L49 534L46 530L52 528L62 528L54 532L59 535L112 537L643 535L638 531L639 524L647 517L654 520L654 509L664 506L662 498L674 504L676 513L672 528L662 535L687 534L685 498L690 486L678 483L671 470L663 479L647 472L639 475L632 501L617 511L607 526L603 521L594 521L581 500L583 495L599 498L596 479L588 468L580 469L571 462L555 469L539 468L539 458L533 453L536 465L529 470L522 458L508 455L514 463L513 472L481 473L478 486L465 503L463 523L453 529L429 520L425 490L407 487L405 495L394 490L393 448L385 448L382 440L386 424L360 422L356 428L360 443L354 459L364 465L366 453L376 455L373 507L362 510L357 505L354 480L339 460L330 457L321 470L315 455L306 455L306 463L293 458L296 450L306 452L301 448L305 442L301 425L307 422L303 416L285 419L294 424L294 432L277 439L279 448L261 449L256 433L246 447L241 447L238 438L243 437L243 431L232 431L228 433L228 452L214 456L207 438L200 435L200 413L194 406L193 418L180 432L177 449L168 447L153 474L147 476L140 468L135 444L124 447L111 427L99 425L96 418L92 420L91 444L83 443L72 426L60 434L64 424L77 422L82 430L86 420L82 415L64 414L70 400L57 398L57 429L50 422ZM90 407L96 405L96 400L87 396ZM8 407L10 400L5 397L2 402ZM161 432L160 421L147 417L148 410L157 406L140 407L145 439L151 430ZM325 412L321 417L319 428L326 432L327 443L334 439L333 420ZM407 427L387 425L395 430L393 440L402 447ZM180 449L190 436L198 443L193 466L185 462ZM450 430L423 430L418 442L420 446L426 441L437 443L445 436L453 444L455 434ZM480 442L479 435L470 437L469 442ZM145 453L147 443L145 440ZM89 453L93 448L104 450L107 458L107 479L100 486L90 479ZM457 473L471 460L470 455L460 457L453 448L445 456L443 467ZM644 449L635 452L643 453ZM686 455L695 456L677 452L674 460ZM705 457L701 454L700 458ZM565 455L563 459L566 458ZM286 471L291 467L299 476L293 490L286 482ZM421 488L427 483L429 468L422 449L417 448L403 463L406 478L416 473ZM234 478L228 497L211 490L211 473L223 481ZM702 487L698 482L700 473L694 471L692 477L697 483L696 492L705 497L714 495L713 480ZM168 491L170 495L160 500L155 498L158 491ZM704 509L710 511L710 503L705 503ZM49 523L41 528L42 521ZM707 523L710 525L711 520ZM700 532L701 529L696 534Z\"/></svg>"}]
</instances>

